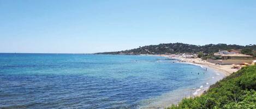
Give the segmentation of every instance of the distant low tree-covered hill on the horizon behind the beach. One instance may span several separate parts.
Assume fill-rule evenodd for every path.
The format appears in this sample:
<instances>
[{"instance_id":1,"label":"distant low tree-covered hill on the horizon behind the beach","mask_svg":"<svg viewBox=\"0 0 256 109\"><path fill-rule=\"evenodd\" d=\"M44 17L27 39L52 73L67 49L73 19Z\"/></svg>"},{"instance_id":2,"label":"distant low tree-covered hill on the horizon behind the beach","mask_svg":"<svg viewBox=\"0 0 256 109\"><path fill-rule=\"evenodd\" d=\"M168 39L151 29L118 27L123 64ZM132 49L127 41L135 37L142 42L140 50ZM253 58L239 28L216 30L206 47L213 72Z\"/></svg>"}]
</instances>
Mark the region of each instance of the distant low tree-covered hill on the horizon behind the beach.
<instances>
[{"instance_id":1,"label":"distant low tree-covered hill on the horizon behind the beach","mask_svg":"<svg viewBox=\"0 0 256 109\"><path fill-rule=\"evenodd\" d=\"M140 55L140 54L178 54L178 53L198 53L206 54L219 52L219 50L251 50L256 52L256 44L249 44L247 46L240 46L237 44L206 44L198 46L194 44L185 43L162 43L158 45L150 45L139 47L130 50L122 50L118 52L104 52L95 54L125 54L125 55Z\"/></svg>"}]
</instances>

